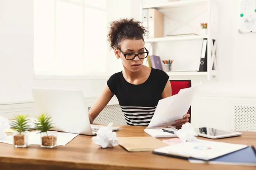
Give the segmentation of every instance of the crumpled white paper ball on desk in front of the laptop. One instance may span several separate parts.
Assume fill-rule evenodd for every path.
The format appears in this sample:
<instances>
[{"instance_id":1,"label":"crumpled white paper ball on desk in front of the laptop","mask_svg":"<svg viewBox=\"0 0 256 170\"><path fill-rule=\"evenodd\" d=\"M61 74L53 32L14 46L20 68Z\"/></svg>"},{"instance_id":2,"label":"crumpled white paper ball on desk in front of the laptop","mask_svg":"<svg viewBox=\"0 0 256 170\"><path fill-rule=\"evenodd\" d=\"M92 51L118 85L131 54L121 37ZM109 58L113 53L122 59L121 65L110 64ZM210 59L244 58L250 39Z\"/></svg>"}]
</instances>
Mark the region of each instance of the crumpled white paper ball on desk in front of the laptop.
<instances>
[{"instance_id":1,"label":"crumpled white paper ball on desk in front of the laptop","mask_svg":"<svg viewBox=\"0 0 256 170\"><path fill-rule=\"evenodd\" d=\"M100 145L102 148L114 147L119 144L119 140L116 137L116 132L113 132L111 126L113 123L109 123L108 126L102 126L99 128L97 135L93 136L92 140L95 144Z\"/></svg>"}]
</instances>

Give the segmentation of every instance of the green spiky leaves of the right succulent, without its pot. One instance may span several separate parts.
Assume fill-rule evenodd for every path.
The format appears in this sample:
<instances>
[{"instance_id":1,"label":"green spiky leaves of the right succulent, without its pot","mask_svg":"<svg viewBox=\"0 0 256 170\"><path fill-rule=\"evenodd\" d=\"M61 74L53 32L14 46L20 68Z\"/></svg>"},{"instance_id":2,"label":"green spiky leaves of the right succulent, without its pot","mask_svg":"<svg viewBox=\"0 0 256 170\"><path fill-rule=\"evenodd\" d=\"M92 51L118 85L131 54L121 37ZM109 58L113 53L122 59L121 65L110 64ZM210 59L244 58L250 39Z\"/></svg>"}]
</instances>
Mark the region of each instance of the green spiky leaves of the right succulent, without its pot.
<instances>
[{"instance_id":1,"label":"green spiky leaves of the right succulent, without its pot","mask_svg":"<svg viewBox=\"0 0 256 170\"><path fill-rule=\"evenodd\" d=\"M50 120L51 117L47 115L46 113L41 114L35 119L35 127L37 130L39 130L39 133L46 132L51 129L52 127L52 120ZM48 136L48 134L47 134Z\"/></svg>"}]
</instances>

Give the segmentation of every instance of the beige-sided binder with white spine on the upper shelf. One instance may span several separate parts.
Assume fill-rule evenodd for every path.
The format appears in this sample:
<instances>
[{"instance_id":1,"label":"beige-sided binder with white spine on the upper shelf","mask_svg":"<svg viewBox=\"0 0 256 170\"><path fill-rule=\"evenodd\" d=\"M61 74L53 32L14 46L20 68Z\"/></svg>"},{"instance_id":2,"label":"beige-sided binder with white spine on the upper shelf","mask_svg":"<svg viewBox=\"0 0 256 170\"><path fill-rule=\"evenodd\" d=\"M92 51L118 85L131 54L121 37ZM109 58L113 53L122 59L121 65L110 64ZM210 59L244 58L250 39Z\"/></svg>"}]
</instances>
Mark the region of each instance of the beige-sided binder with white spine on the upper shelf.
<instances>
[{"instance_id":1,"label":"beige-sided binder with white spine on the upper shelf","mask_svg":"<svg viewBox=\"0 0 256 170\"><path fill-rule=\"evenodd\" d=\"M148 9L148 38L163 37L163 13L154 8Z\"/></svg>"}]
</instances>

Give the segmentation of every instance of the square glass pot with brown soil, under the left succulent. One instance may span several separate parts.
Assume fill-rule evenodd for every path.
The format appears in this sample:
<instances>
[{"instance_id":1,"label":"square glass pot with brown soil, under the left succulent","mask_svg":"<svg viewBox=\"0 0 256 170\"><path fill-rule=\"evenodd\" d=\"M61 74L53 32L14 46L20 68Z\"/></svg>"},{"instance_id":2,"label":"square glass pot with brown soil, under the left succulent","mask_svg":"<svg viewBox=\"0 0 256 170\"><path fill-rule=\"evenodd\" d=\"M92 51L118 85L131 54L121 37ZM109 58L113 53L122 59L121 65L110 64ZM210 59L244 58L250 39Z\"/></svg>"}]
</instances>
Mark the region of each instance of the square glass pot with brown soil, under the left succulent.
<instances>
[{"instance_id":1,"label":"square glass pot with brown soil, under the left succulent","mask_svg":"<svg viewBox=\"0 0 256 170\"><path fill-rule=\"evenodd\" d=\"M14 131L12 133L14 147L27 147L28 146L29 131L21 132Z\"/></svg>"}]
</instances>

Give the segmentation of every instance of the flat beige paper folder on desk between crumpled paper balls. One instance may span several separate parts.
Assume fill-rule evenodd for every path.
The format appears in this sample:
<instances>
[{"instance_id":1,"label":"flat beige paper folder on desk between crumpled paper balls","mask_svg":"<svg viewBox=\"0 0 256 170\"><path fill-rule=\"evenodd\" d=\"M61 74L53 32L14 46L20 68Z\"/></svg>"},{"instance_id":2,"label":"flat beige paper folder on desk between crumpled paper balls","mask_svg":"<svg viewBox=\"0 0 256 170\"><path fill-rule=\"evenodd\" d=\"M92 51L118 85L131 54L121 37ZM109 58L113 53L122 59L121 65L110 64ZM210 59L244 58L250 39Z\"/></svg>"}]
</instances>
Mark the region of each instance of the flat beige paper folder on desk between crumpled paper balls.
<instances>
[{"instance_id":1,"label":"flat beige paper folder on desk between crumpled paper balls","mask_svg":"<svg viewBox=\"0 0 256 170\"><path fill-rule=\"evenodd\" d=\"M151 136L118 137L119 144L129 152L152 151L167 146L166 143Z\"/></svg>"}]
</instances>

